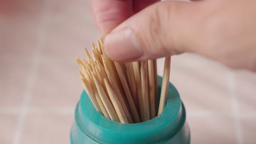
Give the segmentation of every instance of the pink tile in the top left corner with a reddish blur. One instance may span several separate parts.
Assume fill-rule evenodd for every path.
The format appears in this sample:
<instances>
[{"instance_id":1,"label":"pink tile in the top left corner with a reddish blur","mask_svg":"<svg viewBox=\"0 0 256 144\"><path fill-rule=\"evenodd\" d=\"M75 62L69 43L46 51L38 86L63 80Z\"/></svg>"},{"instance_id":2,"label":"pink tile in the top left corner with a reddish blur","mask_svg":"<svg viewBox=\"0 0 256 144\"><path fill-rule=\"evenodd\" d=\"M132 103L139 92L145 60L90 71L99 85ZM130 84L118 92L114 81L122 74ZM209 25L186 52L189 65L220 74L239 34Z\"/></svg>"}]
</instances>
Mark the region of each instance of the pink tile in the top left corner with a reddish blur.
<instances>
[{"instance_id":1,"label":"pink tile in the top left corner with a reddish blur","mask_svg":"<svg viewBox=\"0 0 256 144\"><path fill-rule=\"evenodd\" d=\"M38 43L43 1L1 1L0 56L31 56Z\"/></svg>"}]
</instances>

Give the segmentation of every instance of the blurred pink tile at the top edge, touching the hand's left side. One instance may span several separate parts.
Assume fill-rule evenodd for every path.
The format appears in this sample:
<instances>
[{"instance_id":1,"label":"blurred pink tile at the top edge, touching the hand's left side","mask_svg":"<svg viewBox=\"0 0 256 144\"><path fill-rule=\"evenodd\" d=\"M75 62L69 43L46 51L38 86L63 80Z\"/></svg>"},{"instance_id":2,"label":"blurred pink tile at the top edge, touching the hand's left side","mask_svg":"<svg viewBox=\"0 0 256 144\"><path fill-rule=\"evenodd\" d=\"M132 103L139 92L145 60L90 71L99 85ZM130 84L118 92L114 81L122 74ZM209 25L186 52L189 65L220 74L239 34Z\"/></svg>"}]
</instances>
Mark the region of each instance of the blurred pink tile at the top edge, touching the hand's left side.
<instances>
[{"instance_id":1,"label":"blurred pink tile at the top edge, touching the hand's left side","mask_svg":"<svg viewBox=\"0 0 256 144\"><path fill-rule=\"evenodd\" d=\"M92 18L90 1L54 0L46 29L46 56L83 56L100 37Z\"/></svg>"}]
</instances>

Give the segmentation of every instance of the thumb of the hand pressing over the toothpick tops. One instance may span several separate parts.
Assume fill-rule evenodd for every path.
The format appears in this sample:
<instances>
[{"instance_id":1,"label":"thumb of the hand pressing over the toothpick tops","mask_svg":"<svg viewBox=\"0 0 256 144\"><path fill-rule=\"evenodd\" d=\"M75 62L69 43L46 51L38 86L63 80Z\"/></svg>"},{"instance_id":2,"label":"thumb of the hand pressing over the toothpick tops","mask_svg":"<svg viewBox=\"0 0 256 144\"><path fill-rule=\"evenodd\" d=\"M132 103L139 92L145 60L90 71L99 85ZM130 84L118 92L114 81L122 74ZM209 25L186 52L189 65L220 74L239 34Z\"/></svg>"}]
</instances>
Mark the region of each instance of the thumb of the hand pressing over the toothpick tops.
<instances>
[{"instance_id":1,"label":"thumb of the hand pressing over the toothpick tops","mask_svg":"<svg viewBox=\"0 0 256 144\"><path fill-rule=\"evenodd\" d=\"M203 2L158 2L121 23L104 39L113 61L143 61L193 51Z\"/></svg>"}]
</instances>

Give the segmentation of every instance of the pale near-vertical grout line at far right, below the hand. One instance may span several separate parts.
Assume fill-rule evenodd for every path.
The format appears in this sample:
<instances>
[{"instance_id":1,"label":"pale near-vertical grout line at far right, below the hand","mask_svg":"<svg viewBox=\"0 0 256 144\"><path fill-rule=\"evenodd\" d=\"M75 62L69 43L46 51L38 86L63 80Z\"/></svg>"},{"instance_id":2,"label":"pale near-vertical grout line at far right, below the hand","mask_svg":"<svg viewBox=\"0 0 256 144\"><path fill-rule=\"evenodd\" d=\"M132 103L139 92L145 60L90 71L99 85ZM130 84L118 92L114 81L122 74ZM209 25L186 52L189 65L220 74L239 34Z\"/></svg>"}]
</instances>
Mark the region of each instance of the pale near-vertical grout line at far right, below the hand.
<instances>
[{"instance_id":1,"label":"pale near-vertical grout line at far right, below the hand","mask_svg":"<svg viewBox=\"0 0 256 144\"><path fill-rule=\"evenodd\" d=\"M228 70L228 89L229 89L229 94L231 96L232 117L235 121L235 127L236 127L236 143L243 144L241 118L239 113L237 94L235 90L236 89L235 74L231 70Z\"/></svg>"}]
</instances>

